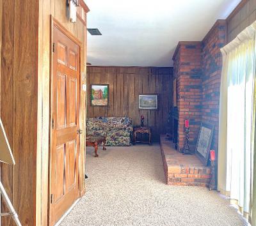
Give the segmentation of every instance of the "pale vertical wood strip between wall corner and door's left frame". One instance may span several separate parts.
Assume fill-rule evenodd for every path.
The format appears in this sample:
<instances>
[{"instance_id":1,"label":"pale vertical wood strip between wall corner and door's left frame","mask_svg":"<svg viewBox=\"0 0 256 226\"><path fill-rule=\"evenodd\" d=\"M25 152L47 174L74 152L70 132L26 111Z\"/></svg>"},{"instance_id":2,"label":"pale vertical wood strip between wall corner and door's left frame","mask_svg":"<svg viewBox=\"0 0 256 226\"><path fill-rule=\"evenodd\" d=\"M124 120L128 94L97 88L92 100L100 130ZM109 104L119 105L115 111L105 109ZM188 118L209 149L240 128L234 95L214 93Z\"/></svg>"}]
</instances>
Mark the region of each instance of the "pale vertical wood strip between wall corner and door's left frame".
<instances>
[{"instance_id":1,"label":"pale vertical wood strip between wall corner and door's left frame","mask_svg":"<svg viewBox=\"0 0 256 226\"><path fill-rule=\"evenodd\" d=\"M49 163L49 73L51 0L40 0L39 9L39 62L38 63L38 158L36 195L36 225L47 225L48 163Z\"/></svg>"}]
</instances>

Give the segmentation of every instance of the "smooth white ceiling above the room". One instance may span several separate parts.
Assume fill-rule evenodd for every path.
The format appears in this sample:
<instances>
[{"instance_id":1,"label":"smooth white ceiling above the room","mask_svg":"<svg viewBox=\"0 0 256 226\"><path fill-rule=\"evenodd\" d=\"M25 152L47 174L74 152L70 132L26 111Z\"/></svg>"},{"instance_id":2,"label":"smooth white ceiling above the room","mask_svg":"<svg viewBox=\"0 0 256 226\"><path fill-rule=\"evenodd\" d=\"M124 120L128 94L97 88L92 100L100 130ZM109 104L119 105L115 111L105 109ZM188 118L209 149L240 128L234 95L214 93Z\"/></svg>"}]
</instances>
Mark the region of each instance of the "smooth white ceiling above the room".
<instances>
[{"instance_id":1,"label":"smooth white ceiling above the room","mask_svg":"<svg viewBox=\"0 0 256 226\"><path fill-rule=\"evenodd\" d=\"M88 63L172 66L179 41L201 41L241 0L86 0Z\"/></svg>"}]
</instances>

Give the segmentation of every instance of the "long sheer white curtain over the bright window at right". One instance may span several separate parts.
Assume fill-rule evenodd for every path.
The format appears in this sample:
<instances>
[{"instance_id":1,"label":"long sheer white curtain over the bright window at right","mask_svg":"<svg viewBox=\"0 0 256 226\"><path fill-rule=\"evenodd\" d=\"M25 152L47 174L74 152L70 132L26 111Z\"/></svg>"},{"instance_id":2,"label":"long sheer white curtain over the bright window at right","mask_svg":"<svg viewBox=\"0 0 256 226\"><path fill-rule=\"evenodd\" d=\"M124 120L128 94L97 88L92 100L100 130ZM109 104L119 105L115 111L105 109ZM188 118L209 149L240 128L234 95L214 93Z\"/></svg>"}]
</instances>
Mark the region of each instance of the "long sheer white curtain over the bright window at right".
<instances>
[{"instance_id":1,"label":"long sheer white curtain over the bright window at right","mask_svg":"<svg viewBox=\"0 0 256 226\"><path fill-rule=\"evenodd\" d=\"M221 76L218 189L253 222L256 22L228 43Z\"/></svg>"}]
</instances>

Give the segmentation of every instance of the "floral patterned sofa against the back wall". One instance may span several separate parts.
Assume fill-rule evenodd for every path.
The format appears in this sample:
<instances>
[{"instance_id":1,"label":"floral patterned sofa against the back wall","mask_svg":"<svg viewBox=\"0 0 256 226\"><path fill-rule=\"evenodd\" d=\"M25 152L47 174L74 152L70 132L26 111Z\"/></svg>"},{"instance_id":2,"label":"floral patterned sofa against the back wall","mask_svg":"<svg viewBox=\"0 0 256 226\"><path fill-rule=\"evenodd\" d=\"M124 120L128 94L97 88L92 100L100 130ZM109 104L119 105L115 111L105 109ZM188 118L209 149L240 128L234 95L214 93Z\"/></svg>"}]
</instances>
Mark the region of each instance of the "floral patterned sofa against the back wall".
<instances>
[{"instance_id":1,"label":"floral patterned sofa against the back wall","mask_svg":"<svg viewBox=\"0 0 256 226\"><path fill-rule=\"evenodd\" d=\"M131 117L88 117L86 135L106 136L107 146L130 146L133 131Z\"/></svg>"}]
</instances>

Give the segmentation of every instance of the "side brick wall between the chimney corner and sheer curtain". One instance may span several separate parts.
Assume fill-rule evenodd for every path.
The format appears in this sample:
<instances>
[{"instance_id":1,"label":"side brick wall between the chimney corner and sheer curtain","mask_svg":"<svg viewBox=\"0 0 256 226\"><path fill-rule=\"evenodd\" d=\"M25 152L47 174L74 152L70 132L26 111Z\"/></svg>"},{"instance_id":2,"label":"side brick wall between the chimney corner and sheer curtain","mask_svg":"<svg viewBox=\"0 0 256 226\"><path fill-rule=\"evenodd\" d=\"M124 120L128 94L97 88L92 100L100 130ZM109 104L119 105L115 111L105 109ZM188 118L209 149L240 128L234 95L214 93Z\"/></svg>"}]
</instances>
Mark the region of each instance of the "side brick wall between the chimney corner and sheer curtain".
<instances>
[{"instance_id":1,"label":"side brick wall between the chimney corner and sheer curtain","mask_svg":"<svg viewBox=\"0 0 256 226\"><path fill-rule=\"evenodd\" d=\"M202 41L202 121L214 124L212 149L218 150L220 80L226 21L218 20Z\"/></svg>"}]
</instances>

